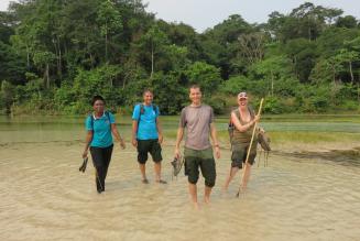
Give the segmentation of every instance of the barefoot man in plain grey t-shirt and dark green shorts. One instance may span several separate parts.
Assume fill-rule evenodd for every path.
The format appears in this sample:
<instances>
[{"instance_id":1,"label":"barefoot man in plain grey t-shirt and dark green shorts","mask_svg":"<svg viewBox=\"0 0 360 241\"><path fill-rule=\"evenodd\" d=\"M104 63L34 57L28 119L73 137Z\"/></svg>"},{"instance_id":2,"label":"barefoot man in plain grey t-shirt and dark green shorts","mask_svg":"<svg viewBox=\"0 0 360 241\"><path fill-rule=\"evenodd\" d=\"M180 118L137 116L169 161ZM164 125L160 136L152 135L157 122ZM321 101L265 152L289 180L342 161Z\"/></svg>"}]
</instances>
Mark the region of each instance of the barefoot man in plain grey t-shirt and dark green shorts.
<instances>
[{"instance_id":1,"label":"barefoot man in plain grey t-shirt and dark green shorts","mask_svg":"<svg viewBox=\"0 0 360 241\"><path fill-rule=\"evenodd\" d=\"M199 167L205 178L204 201L209 202L211 188L215 186L216 168L209 135L212 139L216 157L220 157L220 149L214 124L212 108L201 103L201 91L196 85L189 88L192 103L182 110L175 144L175 156L179 158L179 144L186 128L185 174L188 176L188 189L195 208L198 208L196 183Z\"/></svg>"}]
</instances>

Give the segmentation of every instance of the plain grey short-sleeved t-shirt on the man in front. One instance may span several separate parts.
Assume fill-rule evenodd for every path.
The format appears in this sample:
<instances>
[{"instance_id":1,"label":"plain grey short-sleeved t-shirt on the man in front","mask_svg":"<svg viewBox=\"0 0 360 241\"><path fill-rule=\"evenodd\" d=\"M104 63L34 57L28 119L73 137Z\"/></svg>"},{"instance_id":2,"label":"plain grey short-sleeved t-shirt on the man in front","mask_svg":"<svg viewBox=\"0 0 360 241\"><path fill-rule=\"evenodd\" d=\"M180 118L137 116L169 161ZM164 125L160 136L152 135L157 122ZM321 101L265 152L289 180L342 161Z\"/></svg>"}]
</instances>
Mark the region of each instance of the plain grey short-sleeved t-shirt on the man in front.
<instances>
[{"instance_id":1,"label":"plain grey short-sleeved t-shirt on the man in front","mask_svg":"<svg viewBox=\"0 0 360 241\"><path fill-rule=\"evenodd\" d=\"M209 141L210 123L214 121L212 108L206 105L187 106L182 110L179 127L187 129L185 147L205 150L211 146Z\"/></svg>"}]
</instances>

